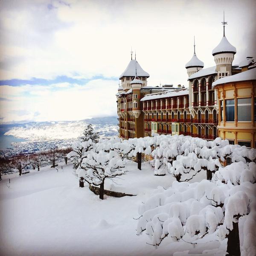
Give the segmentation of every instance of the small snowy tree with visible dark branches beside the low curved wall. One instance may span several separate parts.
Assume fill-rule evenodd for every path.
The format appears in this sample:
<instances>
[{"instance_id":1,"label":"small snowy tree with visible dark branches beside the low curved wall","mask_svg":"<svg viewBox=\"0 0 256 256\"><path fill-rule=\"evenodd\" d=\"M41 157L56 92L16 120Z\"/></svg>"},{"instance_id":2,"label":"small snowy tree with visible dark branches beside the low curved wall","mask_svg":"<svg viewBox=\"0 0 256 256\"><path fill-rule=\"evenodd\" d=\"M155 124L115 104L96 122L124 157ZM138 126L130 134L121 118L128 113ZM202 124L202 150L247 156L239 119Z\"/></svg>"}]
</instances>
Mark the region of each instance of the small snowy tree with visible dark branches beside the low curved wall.
<instances>
[{"instance_id":1,"label":"small snowy tree with visible dark branches beside the low curved wall","mask_svg":"<svg viewBox=\"0 0 256 256\"><path fill-rule=\"evenodd\" d=\"M83 177L89 184L100 185L99 198L103 199L105 179L112 179L125 174L127 172L124 169L125 163L126 161L122 160L116 151L105 152L100 150L95 152L91 150L83 158L78 175L79 178Z\"/></svg>"}]
</instances>

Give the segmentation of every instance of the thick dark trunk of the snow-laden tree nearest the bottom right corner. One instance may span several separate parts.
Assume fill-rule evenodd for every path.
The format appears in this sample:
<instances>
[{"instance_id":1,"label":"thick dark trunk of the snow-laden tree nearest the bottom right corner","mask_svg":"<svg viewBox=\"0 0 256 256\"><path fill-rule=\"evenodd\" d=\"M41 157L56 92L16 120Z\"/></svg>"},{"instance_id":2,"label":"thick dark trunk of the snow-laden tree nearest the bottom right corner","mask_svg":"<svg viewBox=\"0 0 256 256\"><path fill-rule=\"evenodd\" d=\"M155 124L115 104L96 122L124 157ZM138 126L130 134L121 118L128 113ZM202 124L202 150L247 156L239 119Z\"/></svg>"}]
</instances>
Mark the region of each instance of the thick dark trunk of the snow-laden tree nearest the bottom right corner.
<instances>
[{"instance_id":1,"label":"thick dark trunk of the snow-laden tree nearest the bottom right corner","mask_svg":"<svg viewBox=\"0 0 256 256\"><path fill-rule=\"evenodd\" d=\"M233 222L233 230L227 235L227 255L240 256L240 241L238 222Z\"/></svg>"}]
</instances>

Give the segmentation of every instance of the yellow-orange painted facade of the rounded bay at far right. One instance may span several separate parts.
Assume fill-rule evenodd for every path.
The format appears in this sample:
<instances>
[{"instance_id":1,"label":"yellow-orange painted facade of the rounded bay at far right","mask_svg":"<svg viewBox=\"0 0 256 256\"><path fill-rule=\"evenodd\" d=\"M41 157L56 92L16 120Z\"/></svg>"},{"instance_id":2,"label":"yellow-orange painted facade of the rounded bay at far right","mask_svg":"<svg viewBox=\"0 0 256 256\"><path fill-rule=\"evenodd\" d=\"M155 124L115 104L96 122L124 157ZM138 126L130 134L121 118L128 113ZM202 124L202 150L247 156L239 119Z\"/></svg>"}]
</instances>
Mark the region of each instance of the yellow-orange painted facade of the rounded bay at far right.
<instances>
[{"instance_id":1,"label":"yellow-orange painted facade of the rounded bay at far right","mask_svg":"<svg viewBox=\"0 0 256 256\"><path fill-rule=\"evenodd\" d=\"M218 136L230 143L255 148L256 80L218 84L215 89L218 90L221 113L218 119ZM229 119L229 113L232 113L230 117L234 117L233 119Z\"/></svg>"}]
</instances>

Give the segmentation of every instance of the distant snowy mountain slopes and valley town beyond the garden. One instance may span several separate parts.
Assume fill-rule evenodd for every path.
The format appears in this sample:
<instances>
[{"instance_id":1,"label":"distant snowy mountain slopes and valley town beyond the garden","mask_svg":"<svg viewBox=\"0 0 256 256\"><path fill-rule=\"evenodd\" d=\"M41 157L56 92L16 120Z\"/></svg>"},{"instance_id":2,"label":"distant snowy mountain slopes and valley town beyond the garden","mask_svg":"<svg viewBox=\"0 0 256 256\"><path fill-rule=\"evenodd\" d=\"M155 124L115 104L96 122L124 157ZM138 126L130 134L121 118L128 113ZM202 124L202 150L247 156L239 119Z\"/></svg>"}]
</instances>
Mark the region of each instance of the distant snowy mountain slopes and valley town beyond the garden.
<instances>
[{"instance_id":1,"label":"distant snowy mountain slopes and valley town beyond the garden","mask_svg":"<svg viewBox=\"0 0 256 256\"><path fill-rule=\"evenodd\" d=\"M100 137L118 134L117 116L99 117L79 121L29 122L0 125L0 156L34 153L71 146L88 124ZM10 135L10 136L8 136Z\"/></svg>"}]
</instances>

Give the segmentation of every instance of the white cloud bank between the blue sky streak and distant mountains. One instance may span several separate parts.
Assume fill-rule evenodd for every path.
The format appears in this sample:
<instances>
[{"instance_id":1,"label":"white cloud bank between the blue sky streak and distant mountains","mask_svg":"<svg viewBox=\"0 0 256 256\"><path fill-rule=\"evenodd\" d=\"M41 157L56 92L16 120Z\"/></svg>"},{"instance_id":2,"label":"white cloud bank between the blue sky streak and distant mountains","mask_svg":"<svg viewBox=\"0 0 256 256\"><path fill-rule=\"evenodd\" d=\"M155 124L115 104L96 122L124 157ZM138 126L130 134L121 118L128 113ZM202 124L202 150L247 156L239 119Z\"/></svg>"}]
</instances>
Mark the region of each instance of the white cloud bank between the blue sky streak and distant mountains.
<instances>
[{"instance_id":1,"label":"white cloud bank between the blue sky streak and distant mountains","mask_svg":"<svg viewBox=\"0 0 256 256\"><path fill-rule=\"evenodd\" d=\"M0 86L4 122L79 120L116 115L116 80L94 79L86 84Z\"/></svg>"}]
</instances>

